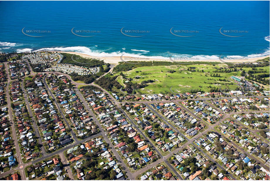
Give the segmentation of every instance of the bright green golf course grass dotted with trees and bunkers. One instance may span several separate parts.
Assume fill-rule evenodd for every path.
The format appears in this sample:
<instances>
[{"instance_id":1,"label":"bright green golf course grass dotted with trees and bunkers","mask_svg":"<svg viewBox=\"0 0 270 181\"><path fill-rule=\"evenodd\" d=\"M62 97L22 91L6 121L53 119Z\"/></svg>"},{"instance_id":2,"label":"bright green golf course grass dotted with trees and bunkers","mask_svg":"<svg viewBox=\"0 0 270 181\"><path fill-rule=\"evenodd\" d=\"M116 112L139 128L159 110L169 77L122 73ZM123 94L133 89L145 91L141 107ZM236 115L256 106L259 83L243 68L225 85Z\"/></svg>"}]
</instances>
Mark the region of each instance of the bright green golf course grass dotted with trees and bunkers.
<instances>
[{"instance_id":1,"label":"bright green golf course grass dotted with trees and bunkers","mask_svg":"<svg viewBox=\"0 0 270 181\"><path fill-rule=\"evenodd\" d=\"M190 71L188 68L195 68ZM155 80L153 83L147 83L147 87L140 89L140 93L169 93L171 90L175 93L191 92L192 90L209 91L211 88L230 88L235 90L237 83L235 83L231 76L240 76L241 71L230 73L215 73L213 71L217 68L223 67L226 69L226 64L213 65L171 65L171 66L151 66L138 67L130 71L125 71L123 74L126 78L131 78L133 83L141 83L149 79ZM267 69L269 66L257 67ZM224 70L223 69L223 70ZM239 69L239 68L238 68ZM252 68L242 68L246 72ZM175 71L170 73L168 71ZM211 77L210 74L220 74L220 77ZM115 75L119 75L115 74ZM135 78L140 76L140 78ZM225 81L219 81L225 79ZM123 86L125 80L122 76L118 76L117 81ZM233 84L232 84L233 83ZM232 84L232 85L228 85Z\"/></svg>"}]
</instances>

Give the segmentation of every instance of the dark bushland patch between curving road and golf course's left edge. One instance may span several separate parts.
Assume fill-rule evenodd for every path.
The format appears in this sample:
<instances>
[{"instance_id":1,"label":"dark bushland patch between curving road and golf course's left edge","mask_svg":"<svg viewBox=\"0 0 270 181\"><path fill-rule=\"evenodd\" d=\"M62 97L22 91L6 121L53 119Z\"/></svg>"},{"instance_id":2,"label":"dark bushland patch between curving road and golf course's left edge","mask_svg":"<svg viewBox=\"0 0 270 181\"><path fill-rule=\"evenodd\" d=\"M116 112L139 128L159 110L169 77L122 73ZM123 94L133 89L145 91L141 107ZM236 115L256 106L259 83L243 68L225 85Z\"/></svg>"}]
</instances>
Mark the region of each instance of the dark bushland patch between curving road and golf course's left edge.
<instances>
[{"instance_id":1,"label":"dark bushland patch between curving road and golf course's left edge","mask_svg":"<svg viewBox=\"0 0 270 181\"><path fill-rule=\"evenodd\" d=\"M120 83L116 80L117 76L104 76L101 77L98 80L95 80L94 83L98 84L102 88L106 90L112 91L113 87L116 87L117 89L120 89L122 86Z\"/></svg>"}]
</instances>

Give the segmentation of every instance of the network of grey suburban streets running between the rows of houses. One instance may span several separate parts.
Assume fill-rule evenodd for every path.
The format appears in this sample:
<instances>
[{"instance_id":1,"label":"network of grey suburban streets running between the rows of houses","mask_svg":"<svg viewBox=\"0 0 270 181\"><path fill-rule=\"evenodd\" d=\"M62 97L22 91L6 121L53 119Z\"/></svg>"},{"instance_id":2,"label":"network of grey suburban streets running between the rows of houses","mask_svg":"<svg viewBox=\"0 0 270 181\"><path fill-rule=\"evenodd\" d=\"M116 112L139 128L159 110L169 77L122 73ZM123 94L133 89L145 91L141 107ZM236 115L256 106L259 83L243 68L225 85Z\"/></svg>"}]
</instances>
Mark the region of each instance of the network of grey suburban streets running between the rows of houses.
<instances>
[{"instance_id":1,"label":"network of grey suburban streets running between the rows of houses","mask_svg":"<svg viewBox=\"0 0 270 181\"><path fill-rule=\"evenodd\" d=\"M47 89L47 91L49 92L49 95L51 96L51 98L54 100L54 104L56 105L57 107L57 110L58 112L60 112L60 115L62 116L62 118L64 119L64 122L65 124L67 125L67 127L71 130L70 133L72 135L72 138L74 140L74 142L72 144L69 144L67 146L64 146L63 148L60 148L52 153L49 153L49 154L46 154L46 151L45 151L45 148L44 146L41 147L41 152L43 153L43 157L41 158L36 158L35 160L29 162L29 163L26 163L26 164L23 164L22 162L22 156L21 156L21 153L20 153L20 148L19 148L19 145L18 145L18 140L17 140L17 134L16 134L16 129L15 129L15 124L14 124L14 120L13 120L13 116L12 116L12 108L11 108L11 100L10 100L10 96L9 96L9 84L11 83L11 79L10 79L10 76L9 76L9 71L8 71L8 67L7 67L7 62L4 63L5 66L6 66L6 72L7 72L7 75L8 75L8 82L7 82L7 87L6 87L6 97L7 97L7 107L8 107L8 111L9 111L9 119L11 120L11 123L12 123L12 126L11 126L11 130L12 130L12 137L13 137L13 140L14 140L14 145L15 145L15 148L16 148L16 156L18 156L17 161L18 161L18 166L16 168L11 168L9 171L6 171L4 173L1 174L1 177L4 177L6 175L9 175L11 173L15 173L16 171L19 171L20 172L20 175L22 177L22 179L26 180L26 175L25 175L25 172L24 172L24 169L29 166L29 165L32 165L32 164L35 164L35 163L38 163L44 159L47 159L47 158L50 158L54 155L59 155L61 160L62 160L62 163L64 164L64 168L67 169L67 174L68 176L71 178L71 179L74 179L73 177L73 174L71 172L71 169L69 167L69 165L67 164L67 159L65 158L64 156L64 151L74 147L74 146L77 146L81 143L84 143L88 140L91 140L95 137L98 137L98 136L103 136L104 140L106 141L106 143L109 144L110 148L111 148L111 151L113 152L114 156L116 157L116 159L119 161L119 164L121 165L121 167L124 169L125 171L125 174L126 176L128 177L128 179L130 180L134 180L136 179L140 174L146 172L147 170L149 170L150 168L154 168L154 166L162 163L162 162L165 162L166 165L170 168L170 170L174 173L174 175L176 175L178 177L178 179L180 180L183 180L183 177L181 175L179 175L179 173L175 170L175 168L167 161L168 158L170 158L171 156L174 155L174 153L177 153L178 151L182 150L183 148L185 148L186 146L188 145L193 145L196 149L198 149L198 151L200 151L200 153L202 153L204 156L206 156L208 158L208 160L212 161L213 163L215 163L218 167L220 167L222 170L225 170L224 166L223 165L220 165L219 163L217 163L213 158L211 158L207 153L205 153L205 151L203 151L201 148L199 148L196 144L193 143L194 140L200 138L203 134L206 134L208 131L211 131L211 130L214 130L214 127L219 125L219 124L223 124L223 121L226 120L227 118L230 118L233 114L241 114L241 113L248 113L248 112L269 112L269 111L245 111L245 112L231 112L231 113L224 113L222 112L222 110L216 108L214 105L212 105L211 103L208 103L206 102L206 100L214 100L214 99L224 99L224 98L250 98L250 97L256 97L256 98L264 98L264 97L267 97L267 96L232 96L232 97L218 97L218 98L191 98L191 99L183 99L183 100L148 100L148 101L117 101L110 93L108 93L108 91L104 90L103 88L101 88L100 86L94 84L94 83L90 83L90 84L85 84L85 83L77 83L75 81L72 80L72 78L67 75L67 74L63 74L61 72L46 72L44 78L43 78L43 83L45 85L45 88ZM29 66L29 69L31 71L31 75L34 75L34 72L32 71L31 67L30 67L30 64L28 62L28 66ZM112 71L113 69L113 66L110 67L110 71ZM108 74L109 72L103 74L106 75ZM77 90L77 95L78 95L78 98L80 99L80 101L83 103L84 107L87 109L87 111L90 113L91 117L93 118L94 122L96 123L96 125L98 125L98 128L100 130L100 132L98 134L95 134L93 136L89 136L85 139L82 139L82 140L78 140L77 139L77 136L76 134L74 133L74 131L72 130L72 128L70 127L69 125L69 122L67 121L67 119L65 118L65 115L59 105L59 103L57 103L56 101L56 98L54 96L54 94L52 93L50 87L48 86L48 84L46 83L46 77L49 73L57 73L57 74L62 74L64 76L66 76L74 85L76 85L76 87L78 87L79 85L91 85L91 86L95 86L99 89L101 89L102 91L104 91L108 96L109 98L111 98L111 100L113 101L113 104L115 104L122 112L123 114L128 118L128 121L130 122L130 124L133 125L133 127L136 127L137 131L140 132L140 134L143 136L143 138L148 141L148 143L151 145L151 148L157 153L157 155L160 157L160 159L158 159L157 161L153 162L153 163L150 163L148 164L146 167L144 168L141 168L137 171L130 171L129 168L127 167L127 165L125 165L124 163L124 160L121 158L121 156L119 155L119 153L117 152L117 150L114 148L112 142L110 141L110 139L108 138L107 134L106 134L106 131L103 130L100 122L98 121L98 119L96 118L95 114L93 113L93 111L91 110L91 108L89 107L88 103L86 102L86 100L84 99L83 95L81 95L81 93L79 92L79 90ZM24 89L24 85L23 85L23 82L21 83L21 87L22 87L22 90L23 90L23 97L24 97L24 102L26 103L26 107L28 109L28 112L29 112L29 115L31 117L31 120L33 122L33 127L34 127L34 131L35 131L35 134L36 136L38 137L38 143L43 145L42 144L42 138L40 137L40 133L38 131L38 127L36 126L36 123L35 123L35 117L33 116L33 112L30 108L30 104L29 104L29 101L28 101L28 94L26 93L25 89ZM217 109L219 112L221 112L224 116L216 123L214 124L208 124L207 122L203 121L201 118L199 118L197 115L195 115L192 111L190 111L189 109L187 109L185 106L181 105L181 102L182 101L187 101L187 100L202 100L204 101L204 103L208 104L209 106ZM196 134L195 136L193 136L191 139L189 139L188 137L186 137L183 133L181 133L179 131L179 129L177 127L175 127L174 125L172 125L170 122L168 122L167 119L165 119L162 115L160 115L155 109L153 109L153 107L151 107L149 104L152 104L152 103L175 103L176 105L180 106L182 109L186 110L190 115L192 115L194 118L200 120L201 122L204 122L206 125L207 125L207 129L204 130L203 132L200 132L198 134ZM136 104L145 104L148 109L150 109L155 115L157 115L158 117L160 117L164 123L168 124L172 129L174 129L178 134L180 134L184 139L186 139L186 142L181 145L179 148L176 148L173 152L170 152L169 154L167 154L166 156L162 156L162 154L160 153L160 151L154 146L154 144L150 141L150 139L144 134L144 132L134 123L134 121L128 116L128 114L121 108L120 104L123 104L123 103L136 103ZM4 106L2 106L4 107ZM245 127L245 125L242 125L243 127ZM246 129L248 129L250 132L252 133L256 133L258 132L259 130L251 130L249 129L248 127L245 127ZM221 136L223 138L226 138L226 136L222 135ZM267 141L267 139L264 139L262 138L260 135L257 135L260 139L264 140L264 141ZM238 146L236 143L234 143L233 141L230 141L230 144L232 144L233 146L235 146L235 148L237 148L240 152L245 152L244 149L242 149L240 146ZM261 161L259 161L258 159L254 158L254 156L252 155L249 155L249 158L253 159L253 160L256 160L257 163L260 163L260 165L262 167L264 167L265 169L269 170L269 167L267 167L266 165L264 165L263 163L261 163ZM20 168L22 166L22 168ZM232 174L228 174L232 179L235 179L235 177L232 175Z\"/></svg>"}]
</instances>

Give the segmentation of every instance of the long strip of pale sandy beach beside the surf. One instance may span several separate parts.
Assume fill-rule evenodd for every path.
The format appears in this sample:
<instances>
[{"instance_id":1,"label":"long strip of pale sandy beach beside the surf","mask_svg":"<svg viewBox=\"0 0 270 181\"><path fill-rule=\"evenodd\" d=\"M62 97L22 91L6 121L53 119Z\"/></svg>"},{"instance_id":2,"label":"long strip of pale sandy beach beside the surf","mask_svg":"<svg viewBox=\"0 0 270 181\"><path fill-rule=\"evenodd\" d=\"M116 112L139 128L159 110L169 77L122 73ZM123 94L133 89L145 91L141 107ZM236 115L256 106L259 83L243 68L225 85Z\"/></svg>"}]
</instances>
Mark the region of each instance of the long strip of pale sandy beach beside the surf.
<instances>
[{"instance_id":1,"label":"long strip of pale sandy beach beside the surf","mask_svg":"<svg viewBox=\"0 0 270 181\"><path fill-rule=\"evenodd\" d=\"M55 52L55 51L50 51L50 52ZM184 59L152 59L152 58L139 58L139 57L93 57L87 54L82 54L82 53L77 53L77 52L61 52L61 51L57 51L59 53L69 53L69 54L75 54L75 55L80 55L81 57L84 58L92 58L92 59L100 59L100 60L104 60L104 62L106 63L110 63L110 64L119 64L118 62L123 62L123 61L170 61L172 62L172 60L174 62L196 62L196 61L200 61L200 62L220 62L219 59L194 59L194 60L184 60ZM235 63L235 62L254 62L257 61L259 59L264 59L268 56L264 56L264 57L254 57L254 58L244 58L244 59L227 59L224 60L222 59L224 62L230 62L230 63ZM223 57L222 57L223 58Z\"/></svg>"}]
</instances>

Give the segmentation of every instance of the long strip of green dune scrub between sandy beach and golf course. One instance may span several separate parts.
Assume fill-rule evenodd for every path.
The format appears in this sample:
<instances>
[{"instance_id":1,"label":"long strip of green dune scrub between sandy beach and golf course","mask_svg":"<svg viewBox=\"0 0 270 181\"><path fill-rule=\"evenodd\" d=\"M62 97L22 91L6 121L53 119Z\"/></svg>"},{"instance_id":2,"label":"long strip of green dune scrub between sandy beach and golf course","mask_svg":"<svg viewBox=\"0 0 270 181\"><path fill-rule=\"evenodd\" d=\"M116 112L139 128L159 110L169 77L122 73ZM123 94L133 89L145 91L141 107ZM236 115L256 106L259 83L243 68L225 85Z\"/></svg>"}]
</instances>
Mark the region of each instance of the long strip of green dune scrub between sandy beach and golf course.
<instances>
[{"instance_id":1,"label":"long strip of green dune scrub between sandy beach and golf course","mask_svg":"<svg viewBox=\"0 0 270 181\"><path fill-rule=\"evenodd\" d=\"M132 64L129 64L132 63ZM129 71L132 69L135 69L137 67L142 66L170 66L170 65L201 65L201 64L208 64L208 65L217 65L220 64L220 62L161 62L161 61L128 61L128 63L125 62L119 62L117 66L113 68L113 71L120 72L120 71Z\"/></svg>"}]
</instances>

